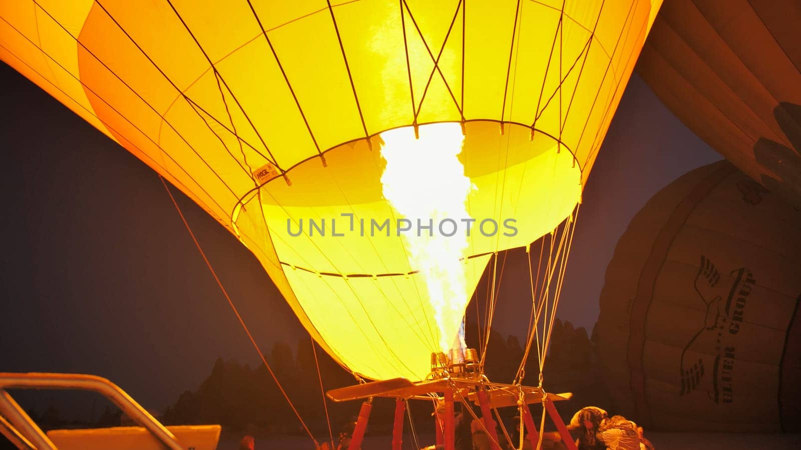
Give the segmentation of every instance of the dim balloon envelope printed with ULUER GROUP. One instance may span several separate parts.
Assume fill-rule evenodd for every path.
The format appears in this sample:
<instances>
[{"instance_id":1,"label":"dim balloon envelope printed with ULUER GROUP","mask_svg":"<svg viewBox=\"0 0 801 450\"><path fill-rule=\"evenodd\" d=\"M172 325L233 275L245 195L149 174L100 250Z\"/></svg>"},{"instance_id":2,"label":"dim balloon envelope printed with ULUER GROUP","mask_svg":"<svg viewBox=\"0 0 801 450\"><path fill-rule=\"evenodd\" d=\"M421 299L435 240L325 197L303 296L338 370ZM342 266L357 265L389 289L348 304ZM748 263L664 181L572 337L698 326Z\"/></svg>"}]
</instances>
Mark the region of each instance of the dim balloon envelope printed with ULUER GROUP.
<instances>
[{"instance_id":1,"label":"dim balloon envelope printed with ULUER GROUP","mask_svg":"<svg viewBox=\"0 0 801 450\"><path fill-rule=\"evenodd\" d=\"M798 430L801 211L727 161L683 175L618 241L596 326L618 410L656 429Z\"/></svg>"}]
</instances>

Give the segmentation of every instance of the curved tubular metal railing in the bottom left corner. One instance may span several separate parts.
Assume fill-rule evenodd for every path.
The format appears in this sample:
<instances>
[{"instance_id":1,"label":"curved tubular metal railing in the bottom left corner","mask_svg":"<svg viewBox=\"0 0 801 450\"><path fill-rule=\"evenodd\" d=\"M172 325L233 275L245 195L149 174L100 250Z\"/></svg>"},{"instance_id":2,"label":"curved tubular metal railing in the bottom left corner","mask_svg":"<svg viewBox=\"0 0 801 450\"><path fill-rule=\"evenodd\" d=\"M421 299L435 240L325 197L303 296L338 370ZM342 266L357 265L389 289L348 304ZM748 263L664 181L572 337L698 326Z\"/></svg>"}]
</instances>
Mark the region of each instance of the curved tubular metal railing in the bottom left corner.
<instances>
[{"instance_id":1,"label":"curved tubular metal railing in the bottom left corner","mask_svg":"<svg viewBox=\"0 0 801 450\"><path fill-rule=\"evenodd\" d=\"M7 389L70 389L97 392L111 400L136 424L147 429L165 448L183 450L175 435L155 420L149 412L119 386L105 378L92 375L61 373L0 372L0 434L18 448L56 450L49 437L10 396Z\"/></svg>"}]
</instances>

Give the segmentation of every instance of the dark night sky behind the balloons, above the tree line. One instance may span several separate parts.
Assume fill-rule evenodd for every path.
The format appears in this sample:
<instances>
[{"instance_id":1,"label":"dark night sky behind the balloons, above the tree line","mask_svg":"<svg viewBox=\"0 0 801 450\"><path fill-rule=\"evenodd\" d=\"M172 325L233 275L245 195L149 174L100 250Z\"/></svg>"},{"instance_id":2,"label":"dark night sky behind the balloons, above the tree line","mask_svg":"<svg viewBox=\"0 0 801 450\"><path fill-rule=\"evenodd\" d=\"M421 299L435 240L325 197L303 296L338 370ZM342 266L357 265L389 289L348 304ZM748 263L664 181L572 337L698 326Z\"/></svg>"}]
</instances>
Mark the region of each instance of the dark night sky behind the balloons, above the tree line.
<instances>
[{"instance_id":1,"label":"dark night sky behind the balloons, above the tree line","mask_svg":"<svg viewBox=\"0 0 801 450\"><path fill-rule=\"evenodd\" d=\"M0 372L105 376L162 409L219 356L255 366L158 175L3 63L0 86ZM584 193L557 316L591 331L631 217L718 159L635 75ZM263 351L308 339L256 258L172 191ZM509 256L493 323L505 334L525 333L528 305L509 299L529 298L527 271L525 253Z\"/></svg>"}]
</instances>

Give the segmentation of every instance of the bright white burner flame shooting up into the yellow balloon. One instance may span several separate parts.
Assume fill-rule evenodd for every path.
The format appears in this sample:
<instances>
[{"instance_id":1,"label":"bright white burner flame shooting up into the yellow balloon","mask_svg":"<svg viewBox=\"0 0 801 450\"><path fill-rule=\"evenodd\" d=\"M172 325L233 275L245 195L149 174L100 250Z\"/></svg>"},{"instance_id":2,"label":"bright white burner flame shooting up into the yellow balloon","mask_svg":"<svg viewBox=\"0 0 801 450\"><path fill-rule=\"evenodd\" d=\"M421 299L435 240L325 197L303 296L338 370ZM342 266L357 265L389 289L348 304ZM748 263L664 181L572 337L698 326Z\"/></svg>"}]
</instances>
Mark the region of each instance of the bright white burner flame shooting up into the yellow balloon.
<instances>
[{"instance_id":1,"label":"bright white burner flame shooting up into the yellow balloon","mask_svg":"<svg viewBox=\"0 0 801 450\"><path fill-rule=\"evenodd\" d=\"M458 155L464 136L458 123L435 123L384 131L381 156L387 162L381 175L384 198L411 230L403 233L409 263L425 279L443 352L465 348L467 306L464 263L468 247L465 230L470 216L465 207L472 184ZM442 222L445 219L445 222ZM447 220L449 219L449 220ZM433 225L433 229L418 227ZM457 227L456 233L448 236Z\"/></svg>"}]
</instances>

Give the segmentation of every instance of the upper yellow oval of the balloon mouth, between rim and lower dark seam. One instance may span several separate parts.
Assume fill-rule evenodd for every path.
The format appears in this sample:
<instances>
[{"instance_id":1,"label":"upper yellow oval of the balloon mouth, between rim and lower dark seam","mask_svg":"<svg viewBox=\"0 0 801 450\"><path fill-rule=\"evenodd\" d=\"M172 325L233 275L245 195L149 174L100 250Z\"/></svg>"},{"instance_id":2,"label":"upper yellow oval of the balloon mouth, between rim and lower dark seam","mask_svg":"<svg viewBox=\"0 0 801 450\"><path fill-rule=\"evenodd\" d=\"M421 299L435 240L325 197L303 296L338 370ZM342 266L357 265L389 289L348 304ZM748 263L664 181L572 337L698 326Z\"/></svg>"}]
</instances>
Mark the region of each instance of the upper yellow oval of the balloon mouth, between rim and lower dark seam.
<instances>
[{"instance_id":1,"label":"upper yellow oval of the balloon mouth, between rim and lower dark seam","mask_svg":"<svg viewBox=\"0 0 801 450\"><path fill-rule=\"evenodd\" d=\"M460 232L470 233L464 263L501 249L529 245L567 219L580 202L581 167L574 166L570 151L566 147L560 151L559 143L549 135L537 132L530 140L531 128L517 123L505 123L505 134L501 135L500 123L491 120L465 122L466 135L461 135L458 122L421 124L418 129L425 132L427 127L435 125L449 126L454 135L464 139L457 159L464 166L463 175L477 186L469 192L468 202L469 216L476 222L469 231L458 223ZM413 127L403 128L414 139ZM396 130L401 129L390 132ZM260 241L262 251L268 254L275 251L280 265L292 271L364 277L413 275L420 267L410 267L405 255L388 256L403 253L397 244L400 239L396 231L409 227L409 223L399 223L403 219L396 217L384 196L381 177L386 161L381 156L382 142L379 134L340 144L324 152L327 165L321 164L319 157L310 157L288 170L291 186L278 177L252 189L232 211L235 233L246 241L255 227L266 225L268 240L266 245L263 239ZM426 164L426 160L417 161L406 176L419 178L417 172ZM495 187L504 178L506 195ZM421 191L420 195L428 194ZM314 224L310 223L312 219ZM505 219L509 222L504 223ZM323 220L324 233L309 229L311 225L322 228ZM387 220L389 231L383 227ZM457 218L453 220L458 222ZM485 221L483 231L482 221ZM412 225L417 231L417 223ZM447 220L434 223L436 232L440 232L440 226L442 231L450 233L453 223ZM335 237L342 234L344 237ZM348 246L355 245L348 252L360 251L364 258L348 261L334 261L328 256L310 258L320 252L339 254L344 241ZM389 247L372 256L376 253L373 244ZM257 251L254 245L259 242L251 240L246 245ZM371 267L380 270L370 270ZM452 344L441 350L448 351Z\"/></svg>"}]
</instances>

